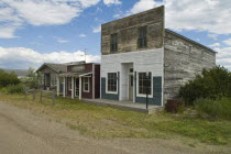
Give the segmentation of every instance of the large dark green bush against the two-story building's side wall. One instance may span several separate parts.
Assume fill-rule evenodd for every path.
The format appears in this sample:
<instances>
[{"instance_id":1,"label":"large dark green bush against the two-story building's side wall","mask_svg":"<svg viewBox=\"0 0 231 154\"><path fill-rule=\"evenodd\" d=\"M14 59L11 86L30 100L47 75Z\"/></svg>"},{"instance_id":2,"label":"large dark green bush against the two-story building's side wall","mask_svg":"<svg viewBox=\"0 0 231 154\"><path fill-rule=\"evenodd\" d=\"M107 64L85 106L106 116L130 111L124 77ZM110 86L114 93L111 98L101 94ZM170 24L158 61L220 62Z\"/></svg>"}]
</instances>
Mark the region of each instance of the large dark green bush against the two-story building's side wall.
<instances>
[{"instance_id":1,"label":"large dark green bush against the two-story building's side wall","mask_svg":"<svg viewBox=\"0 0 231 154\"><path fill-rule=\"evenodd\" d=\"M204 69L194 80L179 89L179 98L183 98L187 106L194 106L199 98L220 99L231 98L231 73L221 66L210 70Z\"/></svg>"}]
</instances>

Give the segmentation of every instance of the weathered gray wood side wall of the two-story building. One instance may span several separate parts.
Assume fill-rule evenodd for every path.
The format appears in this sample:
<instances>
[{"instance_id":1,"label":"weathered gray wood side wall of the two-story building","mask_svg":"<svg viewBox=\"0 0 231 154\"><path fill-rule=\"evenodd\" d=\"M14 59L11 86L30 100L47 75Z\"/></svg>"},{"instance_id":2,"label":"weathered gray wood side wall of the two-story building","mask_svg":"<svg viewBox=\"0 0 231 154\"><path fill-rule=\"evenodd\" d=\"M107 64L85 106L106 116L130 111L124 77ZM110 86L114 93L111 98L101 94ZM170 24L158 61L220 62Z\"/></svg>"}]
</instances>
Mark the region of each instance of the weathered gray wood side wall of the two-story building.
<instances>
[{"instance_id":1,"label":"weathered gray wood side wall of the two-story building","mask_svg":"<svg viewBox=\"0 0 231 154\"><path fill-rule=\"evenodd\" d=\"M190 46L193 47L190 52ZM164 101L178 95L182 85L202 68L216 66L216 53L168 31L164 38Z\"/></svg>"}]
</instances>

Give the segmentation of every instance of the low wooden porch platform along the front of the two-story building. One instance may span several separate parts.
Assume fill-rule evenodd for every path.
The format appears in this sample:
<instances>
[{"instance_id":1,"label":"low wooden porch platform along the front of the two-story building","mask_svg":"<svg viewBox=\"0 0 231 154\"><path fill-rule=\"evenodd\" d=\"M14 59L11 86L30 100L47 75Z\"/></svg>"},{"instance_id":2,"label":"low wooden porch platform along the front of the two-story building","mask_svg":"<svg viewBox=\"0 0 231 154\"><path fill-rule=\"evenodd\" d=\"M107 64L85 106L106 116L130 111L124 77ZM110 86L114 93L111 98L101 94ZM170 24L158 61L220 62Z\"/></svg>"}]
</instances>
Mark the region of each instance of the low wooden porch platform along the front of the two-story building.
<instances>
[{"instance_id":1,"label":"low wooden porch platform along the front of the two-story building","mask_svg":"<svg viewBox=\"0 0 231 154\"><path fill-rule=\"evenodd\" d=\"M134 103L132 101L116 101L108 99L82 99L87 103L98 105L98 106L108 106L117 109L135 111L141 113L154 113L162 111L164 108L161 106L148 105L148 109L146 109L146 105L144 103Z\"/></svg>"}]
</instances>

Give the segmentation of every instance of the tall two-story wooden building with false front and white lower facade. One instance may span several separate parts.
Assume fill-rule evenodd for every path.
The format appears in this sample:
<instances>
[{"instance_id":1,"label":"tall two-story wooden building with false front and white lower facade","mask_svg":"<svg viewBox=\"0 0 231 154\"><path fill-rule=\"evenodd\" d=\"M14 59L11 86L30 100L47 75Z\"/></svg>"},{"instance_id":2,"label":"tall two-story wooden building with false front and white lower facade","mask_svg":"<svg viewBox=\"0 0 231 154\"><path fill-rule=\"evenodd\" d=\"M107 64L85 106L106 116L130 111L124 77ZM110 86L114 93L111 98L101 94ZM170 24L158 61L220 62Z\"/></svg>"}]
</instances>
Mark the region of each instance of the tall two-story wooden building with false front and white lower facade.
<instances>
[{"instance_id":1,"label":"tall two-story wooden building with false front and white lower facade","mask_svg":"<svg viewBox=\"0 0 231 154\"><path fill-rule=\"evenodd\" d=\"M163 106L216 52L165 29L158 7L101 26L101 98Z\"/></svg>"}]
</instances>

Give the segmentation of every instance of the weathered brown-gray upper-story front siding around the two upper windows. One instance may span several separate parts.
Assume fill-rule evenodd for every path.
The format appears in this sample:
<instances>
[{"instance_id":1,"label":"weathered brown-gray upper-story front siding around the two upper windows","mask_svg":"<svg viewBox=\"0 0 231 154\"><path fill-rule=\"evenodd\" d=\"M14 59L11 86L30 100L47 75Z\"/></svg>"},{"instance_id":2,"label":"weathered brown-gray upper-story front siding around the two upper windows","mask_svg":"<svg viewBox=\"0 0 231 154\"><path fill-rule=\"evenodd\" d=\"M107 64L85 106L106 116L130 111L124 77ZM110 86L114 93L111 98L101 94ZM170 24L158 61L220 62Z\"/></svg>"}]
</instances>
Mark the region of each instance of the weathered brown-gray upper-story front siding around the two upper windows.
<instances>
[{"instance_id":1,"label":"weathered brown-gray upper-story front siding around the two upper windows","mask_svg":"<svg viewBox=\"0 0 231 154\"><path fill-rule=\"evenodd\" d=\"M118 33L118 53L138 50L139 28L147 26L147 50L162 48L164 37L164 7L102 24L101 54L110 53L111 34Z\"/></svg>"}]
</instances>

